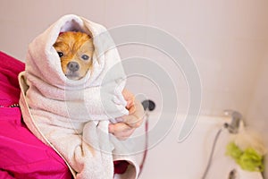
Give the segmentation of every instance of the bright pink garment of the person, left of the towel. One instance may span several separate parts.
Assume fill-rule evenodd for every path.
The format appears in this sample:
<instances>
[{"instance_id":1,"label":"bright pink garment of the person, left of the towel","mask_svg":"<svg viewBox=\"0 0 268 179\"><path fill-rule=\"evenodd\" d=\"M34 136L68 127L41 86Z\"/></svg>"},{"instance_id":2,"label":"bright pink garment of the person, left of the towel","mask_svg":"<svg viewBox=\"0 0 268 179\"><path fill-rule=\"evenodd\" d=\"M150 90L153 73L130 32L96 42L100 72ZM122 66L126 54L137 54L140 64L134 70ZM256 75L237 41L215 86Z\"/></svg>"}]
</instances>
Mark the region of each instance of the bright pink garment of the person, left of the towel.
<instances>
[{"instance_id":1,"label":"bright pink garment of the person, left of the towel","mask_svg":"<svg viewBox=\"0 0 268 179\"><path fill-rule=\"evenodd\" d=\"M21 120L18 73L24 64L0 52L0 178L71 179L53 149L39 141Z\"/></svg>"}]
</instances>

